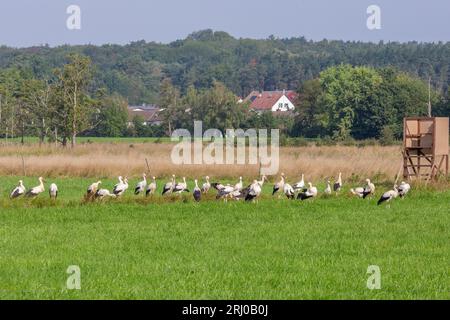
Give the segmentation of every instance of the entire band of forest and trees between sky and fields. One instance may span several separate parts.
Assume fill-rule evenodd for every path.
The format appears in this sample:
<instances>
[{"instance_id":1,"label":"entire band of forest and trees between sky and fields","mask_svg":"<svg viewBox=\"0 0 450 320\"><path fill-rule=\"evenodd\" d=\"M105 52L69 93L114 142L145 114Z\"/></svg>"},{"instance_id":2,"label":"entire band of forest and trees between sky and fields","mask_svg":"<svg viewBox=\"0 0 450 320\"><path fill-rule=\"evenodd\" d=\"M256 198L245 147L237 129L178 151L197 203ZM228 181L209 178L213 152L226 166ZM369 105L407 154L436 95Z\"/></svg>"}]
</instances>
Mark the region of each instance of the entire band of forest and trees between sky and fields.
<instances>
[{"instance_id":1,"label":"entire band of forest and trees between sky and fields","mask_svg":"<svg viewBox=\"0 0 450 320\"><path fill-rule=\"evenodd\" d=\"M0 47L0 137L75 146L78 135L163 136L176 128L279 128L284 137L398 139L404 116L450 115L450 43L235 39L203 30L170 44ZM431 78L431 90L428 80ZM294 114L251 112L237 96L298 92ZM128 123L157 103L161 126Z\"/></svg>"}]
</instances>

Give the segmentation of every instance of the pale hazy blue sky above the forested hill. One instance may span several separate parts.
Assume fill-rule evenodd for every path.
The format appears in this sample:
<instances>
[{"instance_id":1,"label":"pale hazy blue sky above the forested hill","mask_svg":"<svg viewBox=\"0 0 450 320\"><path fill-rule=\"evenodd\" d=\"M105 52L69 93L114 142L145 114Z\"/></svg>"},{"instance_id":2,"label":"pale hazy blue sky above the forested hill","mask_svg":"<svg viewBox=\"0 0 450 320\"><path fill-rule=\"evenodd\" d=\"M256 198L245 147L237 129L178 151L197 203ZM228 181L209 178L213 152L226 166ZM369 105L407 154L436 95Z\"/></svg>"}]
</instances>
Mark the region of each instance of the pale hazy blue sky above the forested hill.
<instances>
[{"instance_id":1,"label":"pale hazy blue sky above the forested hill","mask_svg":"<svg viewBox=\"0 0 450 320\"><path fill-rule=\"evenodd\" d=\"M81 30L68 30L69 5ZM381 8L381 30L366 26ZM450 41L449 0L1 0L0 45L171 42L211 28L235 37Z\"/></svg>"}]
</instances>

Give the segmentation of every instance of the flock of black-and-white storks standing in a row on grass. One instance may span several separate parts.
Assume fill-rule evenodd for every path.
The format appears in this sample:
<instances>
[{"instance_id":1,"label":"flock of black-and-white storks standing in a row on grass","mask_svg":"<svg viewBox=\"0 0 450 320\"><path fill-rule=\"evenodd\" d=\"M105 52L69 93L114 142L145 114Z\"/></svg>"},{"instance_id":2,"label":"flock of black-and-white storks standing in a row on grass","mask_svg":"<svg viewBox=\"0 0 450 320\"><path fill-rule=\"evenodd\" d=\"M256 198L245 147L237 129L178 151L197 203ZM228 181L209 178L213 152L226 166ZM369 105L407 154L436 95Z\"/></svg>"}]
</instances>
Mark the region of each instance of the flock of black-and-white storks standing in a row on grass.
<instances>
[{"instance_id":1,"label":"flock of black-and-white storks standing in a row on grass","mask_svg":"<svg viewBox=\"0 0 450 320\"><path fill-rule=\"evenodd\" d=\"M152 177L152 181L148 183L147 175L145 173L142 177L143 179L142 181L137 183L134 189L134 193L136 195L145 194L145 196L154 195L157 191L156 178ZM122 178L121 176L118 179L119 182L114 186L112 192L110 192L108 189L100 188L100 185L102 184L101 181L92 183L87 189L85 198L88 200L101 200L107 197L121 197L128 190L128 179L126 177ZM239 182L237 182L233 186L230 184L222 184L219 182L211 183L209 177L207 176L205 177L205 182L203 183L201 188L198 185L198 180L194 180L195 186L193 189L193 197L195 201L199 202L202 198L202 194L206 194L210 191L211 188L214 188L217 191L216 199L223 199L224 201L228 201L228 199L243 199L245 201L254 201L261 195L262 187L265 181L267 181L267 177L263 175L261 177L261 180L253 180L250 185L244 187L242 177L239 177ZM325 188L323 193L326 195L331 195L333 192L338 194L341 191L342 186L342 173L339 173L339 176L333 184L333 187L331 187L330 181L327 181L327 187ZM378 205L383 202L389 203L397 197L404 197L410 189L411 186L406 182L402 182L400 185L394 185L394 188L392 190L383 193L381 198L378 200ZM45 192L45 186L44 179L42 177L39 178L39 185L29 189L28 191L25 188L23 181L20 180L19 184L14 188L14 190L12 190L10 198L15 199L21 196L35 198L43 192ZM164 185L162 195L181 194L183 192L190 192L188 189L186 178L183 177L182 181L176 182L175 175L172 175L171 181L167 182ZM366 179L365 186L350 189L350 192L351 194L359 198L366 198L369 196L372 197L375 194L375 185L370 181L370 179ZM304 174L302 174L300 181L291 185L286 182L286 177L282 173L280 180L273 186L272 195L274 196L278 194L279 196L281 196L283 193L288 199L297 198L303 201L309 198L317 197L319 192L317 190L317 187L313 186L311 182L305 184ZM52 183L50 185L49 195L52 199L56 199L58 197L58 187L55 183Z\"/></svg>"}]
</instances>

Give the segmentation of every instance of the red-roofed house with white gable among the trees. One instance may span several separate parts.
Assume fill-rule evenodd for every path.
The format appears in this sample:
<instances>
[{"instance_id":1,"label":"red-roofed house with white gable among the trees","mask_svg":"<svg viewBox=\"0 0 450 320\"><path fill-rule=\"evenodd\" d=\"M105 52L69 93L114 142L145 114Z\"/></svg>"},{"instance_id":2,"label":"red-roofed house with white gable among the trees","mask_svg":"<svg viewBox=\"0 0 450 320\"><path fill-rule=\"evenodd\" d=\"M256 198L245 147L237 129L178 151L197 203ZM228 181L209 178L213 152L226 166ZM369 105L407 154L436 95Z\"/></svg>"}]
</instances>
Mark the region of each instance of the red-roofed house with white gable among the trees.
<instances>
[{"instance_id":1,"label":"red-roofed house with white gable among the trees","mask_svg":"<svg viewBox=\"0 0 450 320\"><path fill-rule=\"evenodd\" d=\"M243 101L250 103L250 109L256 112L287 112L295 110L297 93L292 90L252 91Z\"/></svg>"}]
</instances>

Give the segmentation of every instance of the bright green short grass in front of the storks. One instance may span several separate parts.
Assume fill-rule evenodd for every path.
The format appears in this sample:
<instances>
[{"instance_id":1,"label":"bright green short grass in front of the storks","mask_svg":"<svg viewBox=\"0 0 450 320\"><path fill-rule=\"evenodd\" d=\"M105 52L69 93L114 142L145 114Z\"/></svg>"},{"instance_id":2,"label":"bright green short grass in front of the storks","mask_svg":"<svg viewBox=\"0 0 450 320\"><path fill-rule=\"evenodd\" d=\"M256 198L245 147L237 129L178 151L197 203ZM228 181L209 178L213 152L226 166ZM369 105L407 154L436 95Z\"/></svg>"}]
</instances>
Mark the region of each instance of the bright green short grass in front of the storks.
<instances>
[{"instance_id":1,"label":"bright green short grass in front of the storks","mask_svg":"<svg viewBox=\"0 0 450 320\"><path fill-rule=\"evenodd\" d=\"M90 180L54 181L55 203L1 190L2 299L450 298L448 190L412 190L390 208L346 192L277 199L270 186L258 203L137 200L129 190L83 204ZM69 265L81 268L81 290L66 288ZM369 265L381 269L380 290L366 287Z\"/></svg>"}]
</instances>

